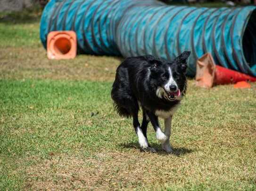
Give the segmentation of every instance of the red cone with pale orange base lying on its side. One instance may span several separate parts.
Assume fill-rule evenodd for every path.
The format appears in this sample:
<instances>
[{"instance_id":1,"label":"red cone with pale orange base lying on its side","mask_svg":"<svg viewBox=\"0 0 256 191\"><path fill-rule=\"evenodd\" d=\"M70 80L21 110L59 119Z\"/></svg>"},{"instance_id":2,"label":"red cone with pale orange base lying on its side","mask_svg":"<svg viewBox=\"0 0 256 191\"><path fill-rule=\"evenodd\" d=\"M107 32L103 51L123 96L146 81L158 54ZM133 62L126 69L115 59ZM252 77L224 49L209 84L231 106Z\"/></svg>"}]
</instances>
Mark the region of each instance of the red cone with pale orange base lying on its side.
<instances>
[{"instance_id":1,"label":"red cone with pale orange base lying on its side","mask_svg":"<svg viewBox=\"0 0 256 191\"><path fill-rule=\"evenodd\" d=\"M211 88L217 84L233 84L240 81L256 82L256 77L215 65L212 55L206 53L197 61L196 81L200 87Z\"/></svg>"}]
</instances>

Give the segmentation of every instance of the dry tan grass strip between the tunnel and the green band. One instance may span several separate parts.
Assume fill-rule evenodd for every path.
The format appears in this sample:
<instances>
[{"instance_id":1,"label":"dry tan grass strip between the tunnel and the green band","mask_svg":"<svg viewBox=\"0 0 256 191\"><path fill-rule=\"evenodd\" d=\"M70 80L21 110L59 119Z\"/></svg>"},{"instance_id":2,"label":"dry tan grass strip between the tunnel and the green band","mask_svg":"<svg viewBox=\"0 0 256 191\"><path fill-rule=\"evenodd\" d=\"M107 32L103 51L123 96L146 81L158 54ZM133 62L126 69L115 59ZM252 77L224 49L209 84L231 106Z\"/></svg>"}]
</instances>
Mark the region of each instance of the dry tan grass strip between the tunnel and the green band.
<instances>
[{"instance_id":1,"label":"dry tan grass strip between the tunnel and the green band","mask_svg":"<svg viewBox=\"0 0 256 191\"><path fill-rule=\"evenodd\" d=\"M75 60L51 61L44 48L6 48L0 51L0 78L110 81L122 58L79 55Z\"/></svg>"}]
</instances>

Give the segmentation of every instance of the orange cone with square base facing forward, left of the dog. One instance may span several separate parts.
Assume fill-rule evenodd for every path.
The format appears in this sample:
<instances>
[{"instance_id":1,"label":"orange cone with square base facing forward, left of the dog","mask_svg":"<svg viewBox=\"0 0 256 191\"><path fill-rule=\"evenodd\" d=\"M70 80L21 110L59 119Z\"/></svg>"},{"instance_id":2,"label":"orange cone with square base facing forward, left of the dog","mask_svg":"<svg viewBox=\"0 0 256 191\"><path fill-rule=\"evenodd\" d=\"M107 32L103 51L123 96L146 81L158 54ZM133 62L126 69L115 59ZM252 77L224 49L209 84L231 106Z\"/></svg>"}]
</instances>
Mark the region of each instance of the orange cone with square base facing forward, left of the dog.
<instances>
[{"instance_id":1,"label":"orange cone with square base facing forward, left of the dog","mask_svg":"<svg viewBox=\"0 0 256 191\"><path fill-rule=\"evenodd\" d=\"M52 31L47 36L47 57L49 59L74 59L76 47L74 31Z\"/></svg>"}]
</instances>

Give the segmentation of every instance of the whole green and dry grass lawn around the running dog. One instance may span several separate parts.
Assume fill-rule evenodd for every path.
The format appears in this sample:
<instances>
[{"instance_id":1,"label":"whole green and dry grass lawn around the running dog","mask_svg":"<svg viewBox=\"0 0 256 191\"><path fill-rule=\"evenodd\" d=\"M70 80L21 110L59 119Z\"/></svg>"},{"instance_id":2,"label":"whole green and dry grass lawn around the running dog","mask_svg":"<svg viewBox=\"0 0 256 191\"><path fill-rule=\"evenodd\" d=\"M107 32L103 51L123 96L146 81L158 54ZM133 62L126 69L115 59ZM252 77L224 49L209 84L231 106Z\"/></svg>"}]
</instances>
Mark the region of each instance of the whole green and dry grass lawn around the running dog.
<instances>
[{"instance_id":1,"label":"whole green and dry grass lawn around the running dog","mask_svg":"<svg viewBox=\"0 0 256 191\"><path fill-rule=\"evenodd\" d=\"M256 190L256 83L189 80L174 153L141 153L110 98L122 58L49 61L27 15L0 16L0 190Z\"/></svg>"}]
</instances>

